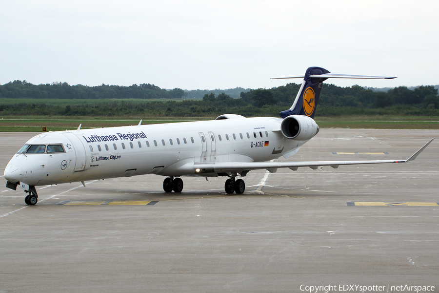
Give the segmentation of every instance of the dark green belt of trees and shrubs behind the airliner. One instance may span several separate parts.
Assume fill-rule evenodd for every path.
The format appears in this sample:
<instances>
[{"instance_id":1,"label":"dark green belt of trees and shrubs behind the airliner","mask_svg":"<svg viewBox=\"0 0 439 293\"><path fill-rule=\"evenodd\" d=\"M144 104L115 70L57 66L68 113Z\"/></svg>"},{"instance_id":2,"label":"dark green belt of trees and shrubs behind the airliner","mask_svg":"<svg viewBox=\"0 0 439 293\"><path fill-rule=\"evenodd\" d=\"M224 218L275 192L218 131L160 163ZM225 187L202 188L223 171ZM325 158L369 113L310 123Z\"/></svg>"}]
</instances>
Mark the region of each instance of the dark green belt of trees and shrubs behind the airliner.
<instances>
[{"instance_id":1,"label":"dark green belt of trees and shrubs behind the airliner","mask_svg":"<svg viewBox=\"0 0 439 293\"><path fill-rule=\"evenodd\" d=\"M90 92L85 96L77 96L75 91L82 87ZM147 98L148 92L152 92L155 98L167 97L167 99L170 99L170 97L182 98L184 92L178 88L171 91L164 90L152 84L128 87L104 84L95 87L70 86L66 83L32 86L25 81L14 81L0 86L0 113L1 115L151 117L200 117L231 113L247 117L277 116L280 111L289 108L293 104L299 88L300 84L290 83L271 89L259 88L246 92L242 91L237 99L224 92L216 94L212 91L205 93L202 100L182 99L182 101L142 102L143 99L150 99ZM60 96L57 96L57 93ZM64 105L46 105L38 102L38 97L41 96L65 99L66 102ZM6 104L1 102L2 97L29 98L30 103ZM92 100L94 102L85 102L83 105L69 105L69 99L78 98L90 99L90 102ZM99 99L111 98L114 101L99 102ZM431 85L427 85L419 86L414 90L399 86L387 92L377 92L359 85L339 87L334 84L323 84L316 115L335 116L346 114L439 115L438 90Z\"/></svg>"}]
</instances>

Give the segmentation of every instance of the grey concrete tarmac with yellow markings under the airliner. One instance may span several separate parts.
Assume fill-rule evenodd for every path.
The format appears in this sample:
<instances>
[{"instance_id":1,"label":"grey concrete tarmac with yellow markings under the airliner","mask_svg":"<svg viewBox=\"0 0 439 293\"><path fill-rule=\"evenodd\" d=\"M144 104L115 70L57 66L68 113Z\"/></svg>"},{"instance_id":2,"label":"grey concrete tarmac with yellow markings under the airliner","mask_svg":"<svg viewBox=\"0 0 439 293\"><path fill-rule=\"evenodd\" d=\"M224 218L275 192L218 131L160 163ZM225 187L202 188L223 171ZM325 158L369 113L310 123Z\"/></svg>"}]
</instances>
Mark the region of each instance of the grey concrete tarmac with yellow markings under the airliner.
<instances>
[{"instance_id":1,"label":"grey concrete tarmac with yellow markings under the airliner","mask_svg":"<svg viewBox=\"0 0 439 293\"><path fill-rule=\"evenodd\" d=\"M407 159L438 134L321 129L288 160ZM0 133L0 176L34 135ZM27 206L0 178L0 293L438 292L438 167L439 138L406 164L251 171L241 195L146 175L37 187Z\"/></svg>"}]
</instances>

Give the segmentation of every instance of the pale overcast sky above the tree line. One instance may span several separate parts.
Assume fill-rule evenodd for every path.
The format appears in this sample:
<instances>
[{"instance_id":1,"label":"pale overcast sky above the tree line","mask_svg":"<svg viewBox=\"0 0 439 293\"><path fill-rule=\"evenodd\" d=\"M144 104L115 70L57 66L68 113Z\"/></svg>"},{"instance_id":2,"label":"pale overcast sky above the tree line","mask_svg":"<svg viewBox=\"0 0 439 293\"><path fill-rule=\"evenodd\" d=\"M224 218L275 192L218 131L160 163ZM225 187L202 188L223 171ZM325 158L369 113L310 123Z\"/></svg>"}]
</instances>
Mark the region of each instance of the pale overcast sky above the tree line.
<instances>
[{"instance_id":1,"label":"pale overcast sky above the tree line","mask_svg":"<svg viewBox=\"0 0 439 293\"><path fill-rule=\"evenodd\" d=\"M0 8L0 84L271 88L309 66L439 84L438 0L14 0Z\"/></svg>"}]
</instances>

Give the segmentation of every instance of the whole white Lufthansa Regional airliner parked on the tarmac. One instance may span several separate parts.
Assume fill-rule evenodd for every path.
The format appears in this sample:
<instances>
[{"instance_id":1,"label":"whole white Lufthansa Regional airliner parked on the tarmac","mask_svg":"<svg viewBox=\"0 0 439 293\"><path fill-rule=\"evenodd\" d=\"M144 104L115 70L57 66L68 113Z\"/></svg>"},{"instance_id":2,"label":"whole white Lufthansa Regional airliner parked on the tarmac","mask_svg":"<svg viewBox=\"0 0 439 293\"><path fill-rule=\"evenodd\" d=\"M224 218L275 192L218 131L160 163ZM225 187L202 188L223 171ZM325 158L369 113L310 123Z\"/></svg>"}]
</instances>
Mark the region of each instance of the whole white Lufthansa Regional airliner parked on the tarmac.
<instances>
[{"instance_id":1,"label":"whole white Lufthansa Regional airliner parked on the tarmac","mask_svg":"<svg viewBox=\"0 0 439 293\"><path fill-rule=\"evenodd\" d=\"M268 162L294 155L319 132L313 120L321 84L328 78L392 79L394 77L332 74L310 67L290 109L280 118L221 115L213 121L122 126L56 131L39 134L25 143L4 170L6 187L28 192L25 203L38 201L35 186L128 177L166 176L163 189L181 192L182 176L226 176L225 192L243 193L250 170L354 164L405 163L405 160Z\"/></svg>"}]
</instances>

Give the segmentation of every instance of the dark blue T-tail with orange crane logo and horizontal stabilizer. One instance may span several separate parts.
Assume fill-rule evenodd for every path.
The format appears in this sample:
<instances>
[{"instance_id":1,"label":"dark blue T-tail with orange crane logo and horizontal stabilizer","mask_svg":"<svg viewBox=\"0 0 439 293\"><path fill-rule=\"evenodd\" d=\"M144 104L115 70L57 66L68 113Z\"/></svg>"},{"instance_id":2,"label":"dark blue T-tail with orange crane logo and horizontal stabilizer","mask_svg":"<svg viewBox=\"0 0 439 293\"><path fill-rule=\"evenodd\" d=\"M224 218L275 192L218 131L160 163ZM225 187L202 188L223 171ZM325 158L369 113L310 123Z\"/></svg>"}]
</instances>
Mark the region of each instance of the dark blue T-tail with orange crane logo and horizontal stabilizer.
<instances>
[{"instance_id":1,"label":"dark blue T-tail with orange crane logo and horizontal stabilizer","mask_svg":"<svg viewBox=\"0 0 439 293\"><path fill-rule=\"evenodd\" d=\"M321 84L328 78L394 79L395 77L334 74L321 67L309 67L306 69L305 75L275 77L272 79L288 78L303 78L303 83L291 108L279 113L281 118L290 115L304 115L314 118L317 103L319 102Z\"/></svg>"}]
</instances>

